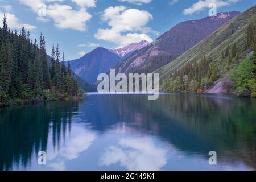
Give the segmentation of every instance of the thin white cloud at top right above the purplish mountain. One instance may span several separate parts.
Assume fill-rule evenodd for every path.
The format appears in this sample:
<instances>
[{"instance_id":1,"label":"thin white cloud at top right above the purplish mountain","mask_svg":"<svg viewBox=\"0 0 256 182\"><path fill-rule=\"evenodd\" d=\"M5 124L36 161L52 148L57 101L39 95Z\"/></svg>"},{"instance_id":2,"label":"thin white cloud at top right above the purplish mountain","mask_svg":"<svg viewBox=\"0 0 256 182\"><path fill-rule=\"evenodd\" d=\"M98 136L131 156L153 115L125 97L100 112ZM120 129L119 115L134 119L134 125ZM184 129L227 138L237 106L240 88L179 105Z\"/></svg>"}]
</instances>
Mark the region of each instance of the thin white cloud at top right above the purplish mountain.
<instances>
[{"instance_id":1,"label":"thin white cloud at top right above the purplish mountain","mask_svg":"<svg viewBox=\"0 0 256 182\"><path fill-rule=\"evenodd\" d=\"M210 3L215 3L217 5L217 8L220 8L222 6L228 6L232 3L236 3L240 0L199 0L198 2L194 3L191 7L188 9L185 9L183 11L184 15L189 15L193 13L197 13L200 11L203 11L208 8Z\"/></svg>"}]
</instances>

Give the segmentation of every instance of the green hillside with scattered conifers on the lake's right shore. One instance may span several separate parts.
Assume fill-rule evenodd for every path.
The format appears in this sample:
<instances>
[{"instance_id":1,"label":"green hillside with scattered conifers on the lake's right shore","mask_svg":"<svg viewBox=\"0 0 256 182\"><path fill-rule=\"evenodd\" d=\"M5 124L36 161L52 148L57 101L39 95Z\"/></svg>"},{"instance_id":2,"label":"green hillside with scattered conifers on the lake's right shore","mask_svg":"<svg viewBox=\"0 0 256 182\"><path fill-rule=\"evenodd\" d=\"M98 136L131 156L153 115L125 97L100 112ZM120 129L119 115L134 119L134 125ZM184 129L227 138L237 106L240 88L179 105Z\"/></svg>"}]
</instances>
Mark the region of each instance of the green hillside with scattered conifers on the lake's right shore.
<instances>
[{"instance_id":1,"label":"green hillside with scattered conifers on the lake's right shore","mask_svg":"<svg viewBox=\"0 0 256 182\"><path fill-rule=\"evenodd\" d=\"M238 96L255 97L255 24L256 6L156 70L163 89L205 92L217 81Z\"/></svg>"}]
</instances>

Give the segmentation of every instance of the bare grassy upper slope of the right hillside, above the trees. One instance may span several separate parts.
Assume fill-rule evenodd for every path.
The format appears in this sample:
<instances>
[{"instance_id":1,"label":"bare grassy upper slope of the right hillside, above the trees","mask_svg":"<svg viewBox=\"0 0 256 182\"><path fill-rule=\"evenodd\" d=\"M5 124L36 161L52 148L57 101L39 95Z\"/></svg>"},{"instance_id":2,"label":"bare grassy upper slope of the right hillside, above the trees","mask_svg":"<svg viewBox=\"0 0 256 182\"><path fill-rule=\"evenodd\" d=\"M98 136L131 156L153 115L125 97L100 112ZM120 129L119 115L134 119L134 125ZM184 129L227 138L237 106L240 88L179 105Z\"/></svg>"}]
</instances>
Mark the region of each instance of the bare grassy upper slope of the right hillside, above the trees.
<instances>
[{"instance_id":1,"label":"bare grassy upper slope of the right hillside, above the trees","mask_svg":"<svg viewBox=\"0 0 256 182\"><path fill-rule=\"evenodd\" d=\"M247 45L247 28L250 24L254 26L256 24L256 6L233 18L212 35L154 73L159 73L162 84L170 82L168 79L172 77L173 73L181 71L186 65L199 63L202 57L206 56L209 57L209 64L214 65L218 71L217 78L225 78L236 62L236 57L230 55L232 47L236 45L236 51L240 58L238 63L252 51L251 47ZM227 52L230 56L222 56L222 52L226 52L227 47L230 47ZM193 69L194 67L195 65L193 65Z\"/></svg>"}]
</instances>

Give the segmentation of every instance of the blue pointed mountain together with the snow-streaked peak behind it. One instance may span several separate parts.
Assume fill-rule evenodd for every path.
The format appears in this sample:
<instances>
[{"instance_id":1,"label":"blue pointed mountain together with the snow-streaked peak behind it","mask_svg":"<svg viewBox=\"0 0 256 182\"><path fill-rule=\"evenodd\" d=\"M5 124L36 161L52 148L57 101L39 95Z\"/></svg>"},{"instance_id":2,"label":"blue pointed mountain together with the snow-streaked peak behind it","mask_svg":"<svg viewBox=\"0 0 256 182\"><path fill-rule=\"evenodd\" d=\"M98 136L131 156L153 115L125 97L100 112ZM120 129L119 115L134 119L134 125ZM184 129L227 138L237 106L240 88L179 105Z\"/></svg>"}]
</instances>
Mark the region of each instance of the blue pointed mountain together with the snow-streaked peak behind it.
<instances>
[{"instance_id":1,"label":"blue pointed mountain together with the snow-streaked peak behind it","mask_svg":"<svg viewBox=\"0 0 256 182\"><path fill-rule=\"evenodd\" d=\"M121 63L131 53L138 51L148 44L150 42L142 40L139 43L131 43L128 46L115 50L97 47L92 52L79 59L69 61L69 63L76 75L90 84L94 84L97 82L97 77L100 73L109 72L111 68Z\"/></svg>"}]
</instances>

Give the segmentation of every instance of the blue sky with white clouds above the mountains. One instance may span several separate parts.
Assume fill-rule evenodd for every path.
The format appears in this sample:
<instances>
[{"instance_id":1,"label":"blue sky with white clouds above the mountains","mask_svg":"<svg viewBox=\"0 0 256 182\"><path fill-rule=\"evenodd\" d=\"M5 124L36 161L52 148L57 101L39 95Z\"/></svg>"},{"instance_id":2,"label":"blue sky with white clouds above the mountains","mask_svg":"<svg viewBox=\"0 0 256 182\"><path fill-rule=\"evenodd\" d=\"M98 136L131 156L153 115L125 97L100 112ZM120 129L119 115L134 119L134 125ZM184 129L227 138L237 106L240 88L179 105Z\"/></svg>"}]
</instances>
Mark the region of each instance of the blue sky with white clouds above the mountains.
<instances>
[{"instance_id":1,"label":"blue sky with white clouds above the mountains","mask_svg":"<svg viewBox=\"0 0 256 182\"><path fill-rule=\"evenodd\" d=\"M97 46L155 40L177 23L208 16L212 2L217 13L256 5L256 0L0 0L0 15L7 14L11 29L30 30L31 39L42 32L47 53L59 43L72 60Z\"/></svg>"}]
</instances>

